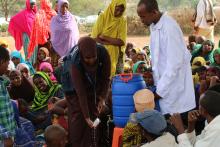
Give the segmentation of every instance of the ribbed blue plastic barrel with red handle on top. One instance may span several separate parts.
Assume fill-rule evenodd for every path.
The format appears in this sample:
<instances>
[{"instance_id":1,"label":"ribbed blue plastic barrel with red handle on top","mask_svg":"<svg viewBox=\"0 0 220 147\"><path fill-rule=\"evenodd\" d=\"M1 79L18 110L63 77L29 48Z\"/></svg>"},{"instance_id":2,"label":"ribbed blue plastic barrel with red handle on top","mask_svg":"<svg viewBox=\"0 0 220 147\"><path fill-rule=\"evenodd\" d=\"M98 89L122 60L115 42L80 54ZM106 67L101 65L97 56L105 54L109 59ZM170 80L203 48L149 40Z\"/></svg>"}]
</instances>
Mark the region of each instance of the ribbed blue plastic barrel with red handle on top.
<instances>
[{"instance_id":1,"label":"ribbed blue plastic barrel with red handle on top","mask_svg":"<svg viewBox=\"0 0 220 147\"><path fill-rule=\"evenodd\" d=\"M124 128L131 113L135 112L133 95L146 88L140 74L122 74L113 78L112 104L115 126Z\"/></svg>"}]
</instances>

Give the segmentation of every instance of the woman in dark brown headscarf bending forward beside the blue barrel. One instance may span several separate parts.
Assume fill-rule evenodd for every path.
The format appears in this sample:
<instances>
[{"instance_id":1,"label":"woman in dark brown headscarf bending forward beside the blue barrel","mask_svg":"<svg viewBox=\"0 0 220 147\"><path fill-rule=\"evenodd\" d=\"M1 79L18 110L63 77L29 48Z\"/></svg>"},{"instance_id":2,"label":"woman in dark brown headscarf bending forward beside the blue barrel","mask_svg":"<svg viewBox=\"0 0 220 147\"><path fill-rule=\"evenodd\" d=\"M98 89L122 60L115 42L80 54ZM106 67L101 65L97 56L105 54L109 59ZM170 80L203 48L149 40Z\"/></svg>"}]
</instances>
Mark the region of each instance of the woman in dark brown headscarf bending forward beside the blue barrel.
<instances>
[{"instance_id":1,"label":"woman in dark brown headscarf bending forward beside the blue barrel","mask_svg":"<svg viewBox=\"0 0 220 147\"><path fill-rule=\"evenodd\" d=\"M99 146L100 126L94 127L93 122L105 108L110 83L110 57L106 49L97 46L90 37L81 38L75 50L77 58L71 70L74 89L65 93L69 141L73 147L96 147Z\"/></svg>"}]
</instances>

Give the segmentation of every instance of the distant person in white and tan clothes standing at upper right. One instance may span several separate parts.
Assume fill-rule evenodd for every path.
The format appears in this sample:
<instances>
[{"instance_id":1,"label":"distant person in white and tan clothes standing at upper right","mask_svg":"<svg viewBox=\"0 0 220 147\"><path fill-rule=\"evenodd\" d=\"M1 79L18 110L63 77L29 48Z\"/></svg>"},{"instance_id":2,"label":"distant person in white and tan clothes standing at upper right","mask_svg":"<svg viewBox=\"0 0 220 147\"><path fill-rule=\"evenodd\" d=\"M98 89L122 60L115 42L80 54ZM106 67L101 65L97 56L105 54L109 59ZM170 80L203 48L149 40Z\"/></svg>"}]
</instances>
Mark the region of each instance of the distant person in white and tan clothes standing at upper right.
<instances>
[{"instance_id":1,"label":"distant person in white and tan clothes standing at upper right","mask_svg":"<svg viewBox=\"0 0 220 147\"><path fill-rule=\"evenodd\" d=\"M214 42L214 26L217 23L212 0L200 0L193 21L196 35Z\"/></svg>"}]
</instances>

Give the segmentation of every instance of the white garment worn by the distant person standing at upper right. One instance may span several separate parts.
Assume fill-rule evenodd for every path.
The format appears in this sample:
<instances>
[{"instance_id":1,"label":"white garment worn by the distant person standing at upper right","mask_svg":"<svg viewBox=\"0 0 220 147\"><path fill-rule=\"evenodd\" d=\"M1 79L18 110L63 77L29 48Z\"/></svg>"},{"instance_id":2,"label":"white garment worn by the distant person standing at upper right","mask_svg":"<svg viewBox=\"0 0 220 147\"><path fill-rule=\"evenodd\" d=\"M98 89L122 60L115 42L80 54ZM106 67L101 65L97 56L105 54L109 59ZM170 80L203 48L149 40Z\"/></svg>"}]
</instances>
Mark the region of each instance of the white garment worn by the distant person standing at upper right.
<instances>
[{"instance_id":1,"label":"white garment worn by the distant person standing at upper right","mask_svg":"<svg viewBox=\"0 0 220 147\"><path fill-rule=\"evenodd\" d=\"M213 7L212 0L200 0L197 5L197 15L195 26L203 29L213 29L214 26L209 25L206 20L206 13L211 13ZM210 14L211 15L211 14Z\"/></svg>"}]
</instances>

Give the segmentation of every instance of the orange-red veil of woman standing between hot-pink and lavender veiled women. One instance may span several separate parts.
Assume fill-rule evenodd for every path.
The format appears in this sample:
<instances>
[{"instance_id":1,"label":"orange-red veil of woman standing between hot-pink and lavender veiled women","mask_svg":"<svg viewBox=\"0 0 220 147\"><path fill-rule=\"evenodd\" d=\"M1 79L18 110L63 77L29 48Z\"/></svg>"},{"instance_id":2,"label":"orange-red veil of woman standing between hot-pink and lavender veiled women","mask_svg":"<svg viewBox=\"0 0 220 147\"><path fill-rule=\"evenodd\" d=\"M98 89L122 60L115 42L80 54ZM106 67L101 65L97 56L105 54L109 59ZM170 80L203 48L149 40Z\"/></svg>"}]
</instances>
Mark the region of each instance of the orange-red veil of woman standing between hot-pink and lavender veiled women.
<instances>
[{"instance_id":1,"label":"orange-red veil of woman standing between hot-pink and lavender veiled women","mask_svg":"<svg viewBox=\"0 0 220 147\"><path fill-rule=\"evenodd\" d=\"M56 12L52 9L50 0L40 1L41 9L37 12L30 38L30 44L28 46L28 57L34 52L34 48L38 44L45 44L49 38L50 33L50 21Z\"/></svg>"}]
</instances>

